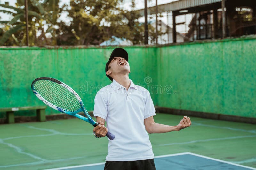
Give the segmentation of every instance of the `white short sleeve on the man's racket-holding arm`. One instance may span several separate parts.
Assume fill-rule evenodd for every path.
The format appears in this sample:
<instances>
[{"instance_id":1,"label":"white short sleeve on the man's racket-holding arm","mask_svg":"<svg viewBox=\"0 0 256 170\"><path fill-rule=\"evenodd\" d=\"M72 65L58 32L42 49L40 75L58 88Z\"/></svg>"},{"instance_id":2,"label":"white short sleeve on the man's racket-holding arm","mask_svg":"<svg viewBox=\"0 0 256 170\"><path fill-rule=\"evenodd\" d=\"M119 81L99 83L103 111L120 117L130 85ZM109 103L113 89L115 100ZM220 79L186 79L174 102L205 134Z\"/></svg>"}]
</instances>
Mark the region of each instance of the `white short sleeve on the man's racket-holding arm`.
<instances>
[{"instance_id":1,"label":"white short sleeve on the man's racket-holding arm","mask_svg":"<svg viewBox=\"0 0 256 170\"><path fill-rule=\"evenodd\" d=\"M94 117L98 116L106 120L108 115L108 103L106 99L106 93L97 93L94 98Z\"/></svg>"}]
</instances>

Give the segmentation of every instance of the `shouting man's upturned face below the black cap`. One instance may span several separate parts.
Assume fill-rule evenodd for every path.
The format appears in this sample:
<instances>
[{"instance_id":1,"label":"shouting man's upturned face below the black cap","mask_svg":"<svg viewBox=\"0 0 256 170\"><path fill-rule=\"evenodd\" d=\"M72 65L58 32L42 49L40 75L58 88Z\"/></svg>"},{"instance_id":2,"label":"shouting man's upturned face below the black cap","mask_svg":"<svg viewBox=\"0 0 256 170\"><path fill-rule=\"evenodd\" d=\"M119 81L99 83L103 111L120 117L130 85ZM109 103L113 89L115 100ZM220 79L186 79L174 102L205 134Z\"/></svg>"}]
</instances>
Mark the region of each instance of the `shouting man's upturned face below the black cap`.
<instances>
[{"instance_id":1,"label":"shouting man's upturned face below the black cap","mask_svg":"<svg viewBox=\"0 0 256 170\"><path fill-rule=\"evenodd\" d=\"M108 68L108 71L114 75L116 73L130 73L130 65L128 61L122 57L114 57L109 63Z\"/></svg>"}]
</instances>

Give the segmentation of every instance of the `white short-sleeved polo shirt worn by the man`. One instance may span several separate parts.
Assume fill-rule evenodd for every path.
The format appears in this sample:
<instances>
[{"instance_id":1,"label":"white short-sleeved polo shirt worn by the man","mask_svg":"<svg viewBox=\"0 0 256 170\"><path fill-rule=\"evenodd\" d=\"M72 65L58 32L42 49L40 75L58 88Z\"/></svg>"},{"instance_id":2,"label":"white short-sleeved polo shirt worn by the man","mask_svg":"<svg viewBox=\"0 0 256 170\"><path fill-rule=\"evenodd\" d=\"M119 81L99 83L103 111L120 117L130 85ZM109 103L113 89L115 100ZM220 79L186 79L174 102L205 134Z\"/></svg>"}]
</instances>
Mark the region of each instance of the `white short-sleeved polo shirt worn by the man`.
<instances>
[{"instance_id":1,"label":"white short-sleeved polo shirt worn by the man","mask_svg":"<svg viewBox=\"0 0 256 170\"><path fill-rule=\"evenodd\" d=\"M150 93L144 87L125 87L115 80L95 96L94 116L106 120L108 131L116 137L108 142L107 161L153 159L154 154L144 119L156 115Z\"/></svg>"}]
</instances>

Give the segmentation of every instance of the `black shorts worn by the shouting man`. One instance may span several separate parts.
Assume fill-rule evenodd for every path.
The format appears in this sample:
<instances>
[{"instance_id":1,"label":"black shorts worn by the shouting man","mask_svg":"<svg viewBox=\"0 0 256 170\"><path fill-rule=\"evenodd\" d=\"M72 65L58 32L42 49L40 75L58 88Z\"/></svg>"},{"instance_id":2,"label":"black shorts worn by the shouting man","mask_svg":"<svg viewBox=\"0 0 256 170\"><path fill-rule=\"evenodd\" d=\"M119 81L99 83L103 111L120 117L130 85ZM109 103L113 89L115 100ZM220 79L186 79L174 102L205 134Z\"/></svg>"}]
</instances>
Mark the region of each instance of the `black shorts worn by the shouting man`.
<instances>
[{"instance_id":1,"label":"black shorts worn by the shouting man","mask_svg":"<svg viewBox=\"0 0 256 170\"><path fill-rule=\"evenodd\" d=\"M156 170L154 159L106 161L104 170Z\"/></svg>"}]
</instances>

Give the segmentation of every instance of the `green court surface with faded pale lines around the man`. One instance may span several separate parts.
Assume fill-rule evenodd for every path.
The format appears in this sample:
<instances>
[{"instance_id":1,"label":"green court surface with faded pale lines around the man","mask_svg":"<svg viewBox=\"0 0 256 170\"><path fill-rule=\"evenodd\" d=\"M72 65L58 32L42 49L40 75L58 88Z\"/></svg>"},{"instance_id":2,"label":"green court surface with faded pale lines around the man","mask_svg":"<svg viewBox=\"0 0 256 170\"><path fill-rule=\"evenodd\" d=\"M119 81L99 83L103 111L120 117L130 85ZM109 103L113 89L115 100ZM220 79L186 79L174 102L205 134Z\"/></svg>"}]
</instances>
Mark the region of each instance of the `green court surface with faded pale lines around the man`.
<instances>
[{"instance_id":1,"label":"green court surface with faded pale lines around the man","mask_svg":"<svg viewBox=\"0 0 256 170\"><path fill-rule=\"evenodd\" d=\"M168 125L178 124L181 118L154 116L155 122ZM255 125L196 117L191 121L191 127L179 132L149 134L155 156L190 152L256 168ZM0 125L0 168L50 169L102 163L108 139L96 139L92 129L79 119ZM193 162L192 157L185 160Z\"/></svg>"}]
</instances>

